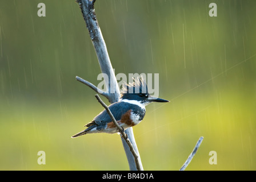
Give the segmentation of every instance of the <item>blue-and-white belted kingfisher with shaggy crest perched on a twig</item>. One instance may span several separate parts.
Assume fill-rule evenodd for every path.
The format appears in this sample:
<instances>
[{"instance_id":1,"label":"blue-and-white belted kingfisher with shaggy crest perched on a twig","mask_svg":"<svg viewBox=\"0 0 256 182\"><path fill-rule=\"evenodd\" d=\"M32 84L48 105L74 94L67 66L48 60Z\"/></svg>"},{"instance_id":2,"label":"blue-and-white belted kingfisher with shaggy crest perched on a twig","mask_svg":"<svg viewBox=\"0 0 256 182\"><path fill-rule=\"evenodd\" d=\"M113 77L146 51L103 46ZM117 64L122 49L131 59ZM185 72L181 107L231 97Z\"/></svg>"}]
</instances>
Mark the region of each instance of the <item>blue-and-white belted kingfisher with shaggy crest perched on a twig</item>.
<instances>
[{"instance_id":1,"label":"blue-and-white belted kingfisher with shaggy crest perched on a twig","mask_svg":"<svg viewBox=\"0 0 256 182\"><path fill-rule=\"evenodd\" d=\"M109 105L109 109L117 123L126 130L129 127L138 125L138 123L142 121L146 114L145 106L151 102L170 101L150 96L146 82L141 77L134 79L133 83L123 84L119 101ZM119 132L106 109L85 126L87 129L73 135L71 138L89 133L113 134Z\"/></svg>"}]
</instances>

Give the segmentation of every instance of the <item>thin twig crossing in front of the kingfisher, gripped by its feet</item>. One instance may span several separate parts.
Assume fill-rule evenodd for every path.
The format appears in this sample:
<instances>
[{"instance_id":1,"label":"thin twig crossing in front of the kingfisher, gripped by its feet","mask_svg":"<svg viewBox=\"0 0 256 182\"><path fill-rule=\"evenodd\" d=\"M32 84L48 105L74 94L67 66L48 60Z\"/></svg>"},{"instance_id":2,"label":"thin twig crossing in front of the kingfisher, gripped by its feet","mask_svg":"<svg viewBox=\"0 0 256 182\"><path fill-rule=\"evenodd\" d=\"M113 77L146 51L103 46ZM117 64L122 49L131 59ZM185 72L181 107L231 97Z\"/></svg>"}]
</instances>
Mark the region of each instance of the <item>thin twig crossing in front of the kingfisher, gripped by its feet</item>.
<instances>
[{"instance_id":1,"label":"thin twig crossing in front of the kingfisher, gripped by its feet","mask_svg":"<svg viewBox=\"0 0 256 182\"><path fill-rule=\"evenodd\" d=\"M115 120L113 114L111 113L109 107L107 107L107 105L101 100L101 98L99 97L98 94L95 95L95 97L97 98L97 100L99 101L99 103L101 103L101 105L106 109L107 113L109 114L110 118L112 119L113 123L115 124L115 126L117 126L117 129L119 130L119 133L121 133L121 135L123 136L123 139L125 139L126 143L128 144L131 153L134 156L134 160L136 163L136 167L138 171L142 171L141 169L141 165L139 164L139 160L138 160L138 155L135 152L134 148L133 148L133 144L131 144L129 138L127 137L125 131L123 130L123 128L121 126L118 125L117 121Z\"/></svg>"}]
</instances>

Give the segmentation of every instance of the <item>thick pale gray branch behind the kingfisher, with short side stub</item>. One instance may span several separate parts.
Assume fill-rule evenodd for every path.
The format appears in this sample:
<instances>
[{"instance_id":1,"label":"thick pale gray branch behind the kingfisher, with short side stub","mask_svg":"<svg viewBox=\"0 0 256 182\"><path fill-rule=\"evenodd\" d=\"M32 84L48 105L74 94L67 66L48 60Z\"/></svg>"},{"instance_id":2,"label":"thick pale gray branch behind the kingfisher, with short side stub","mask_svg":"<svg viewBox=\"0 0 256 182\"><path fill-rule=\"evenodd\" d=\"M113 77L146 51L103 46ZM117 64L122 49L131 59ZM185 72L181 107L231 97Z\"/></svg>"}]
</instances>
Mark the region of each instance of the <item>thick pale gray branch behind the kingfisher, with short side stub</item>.
<instances>
[{"instance_id":1,"label":"thick pale gray branch behind the kingfisher, with short side stub","mask_svg":"<svg viewBox=\"0 0 256 182\"><path fill-rule=\"evenodd\" d=\"M77 0L79 7L82 11L83 19L85 19L86 27L89 31L91 41L93 42L93 46L95 48L95 52L98 57L99 65L101 67L101 71L105 80L106 85L108 86L107 92L100 93L102 96L105 96L110 103L117 102L120 97L120 91L117 83L117 79L115 78L114 70L112 68L109 53L107 52L107 47L105 41L103 39L101 28L99 28L98 21L96 19L96 14L94 10L94 2L90 0ZM83 80L80 77L76 77L78 81L83 82L95 92L99 93L99 89L91 84L90 82ZM102 90L101 90L102 91ZM133 144L134 150L138 155L140 169L143 170L141 158L139 156L137 144L134 139L133 129L129 128L125 130L130 142ZM122 138L122 137L121 137ZM127 160L129 163L129 167L131 171L137 170L135 159L131 151L129 150L129 146L126 143L125 139L122 138L123 148L125 150Z\"/></svg>"}]
</instances>

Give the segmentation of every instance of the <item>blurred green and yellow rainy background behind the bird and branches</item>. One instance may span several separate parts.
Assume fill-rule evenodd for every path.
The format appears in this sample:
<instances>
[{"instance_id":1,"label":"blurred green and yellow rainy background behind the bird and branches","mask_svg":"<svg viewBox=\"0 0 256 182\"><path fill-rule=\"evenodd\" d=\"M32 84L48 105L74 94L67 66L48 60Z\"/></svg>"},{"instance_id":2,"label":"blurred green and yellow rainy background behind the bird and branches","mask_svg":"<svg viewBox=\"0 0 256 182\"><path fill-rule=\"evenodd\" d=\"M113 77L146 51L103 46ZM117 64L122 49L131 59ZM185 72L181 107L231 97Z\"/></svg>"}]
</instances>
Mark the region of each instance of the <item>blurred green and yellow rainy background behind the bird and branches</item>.
<instances>
[{"instance_id":1,"label":"blurred green and yellow rainy background behind the bird and branches","mask_svg":"<svg viewBox=\"0 0 256 182\"><path fill-rule=\"evenodd\" d=\"M256 169L256 1L97 0L95 11L115 73L159 73L171 101L133 128L145 170L178 170L201 136L187 170ZM1 0L0 33L0 169L128 170L117 134L70 138L103 110L75 80L101 73L78 4Z\"/></svg>"}]
</instances>

